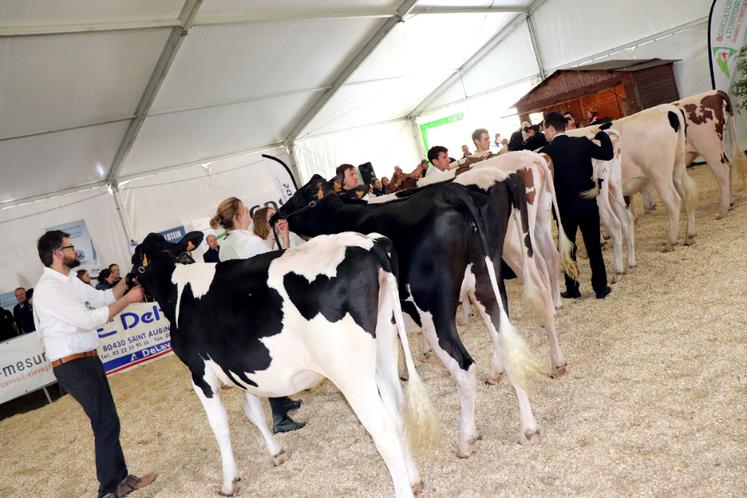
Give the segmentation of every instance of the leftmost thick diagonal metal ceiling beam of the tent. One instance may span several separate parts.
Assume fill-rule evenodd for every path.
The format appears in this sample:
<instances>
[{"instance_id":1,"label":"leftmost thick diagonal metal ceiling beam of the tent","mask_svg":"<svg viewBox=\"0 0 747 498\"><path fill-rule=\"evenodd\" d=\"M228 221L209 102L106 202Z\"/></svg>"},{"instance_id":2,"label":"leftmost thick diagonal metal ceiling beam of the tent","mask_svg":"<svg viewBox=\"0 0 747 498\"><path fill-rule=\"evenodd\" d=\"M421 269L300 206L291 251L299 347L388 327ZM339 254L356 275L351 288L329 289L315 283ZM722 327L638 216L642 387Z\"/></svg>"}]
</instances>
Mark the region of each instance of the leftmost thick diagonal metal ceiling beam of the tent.
<instances>
[{"instance_id":1,"label":"leftmost thick diagonal metal ceiling beam of the tent","mask_svg":"<svg viewBox=\"0 0 747 498\"><path fill-rule=\"evenodd\" d=\"M158 90L163 84L163 80L166 78L166 74L171 67L171 63L174 62L176 54L179 52L179 48L184 41L184 37L189 33L189 29L194 23L197 11L202 5L203 0L186 0L182 7L181 14L179 14L179 26L171 29L171 34L166 45L163 47L161 56L158 58L158 63L153 69L153 73L150 75L148 85L145 87L140 102L138 103L137 110L135 111L135 119L130 122L130 126L127 128L127 132L122 139L122 143L119 144L117 153L114 155L112 166L109 169L109 174L106 177L108 183L116 187L117 177L119 172L122 170L127 156L132 150L132 146L135 144L138 133L140 133L145 118L148 116L153 102L156 100Z\"/></svg>"}]
</instances>

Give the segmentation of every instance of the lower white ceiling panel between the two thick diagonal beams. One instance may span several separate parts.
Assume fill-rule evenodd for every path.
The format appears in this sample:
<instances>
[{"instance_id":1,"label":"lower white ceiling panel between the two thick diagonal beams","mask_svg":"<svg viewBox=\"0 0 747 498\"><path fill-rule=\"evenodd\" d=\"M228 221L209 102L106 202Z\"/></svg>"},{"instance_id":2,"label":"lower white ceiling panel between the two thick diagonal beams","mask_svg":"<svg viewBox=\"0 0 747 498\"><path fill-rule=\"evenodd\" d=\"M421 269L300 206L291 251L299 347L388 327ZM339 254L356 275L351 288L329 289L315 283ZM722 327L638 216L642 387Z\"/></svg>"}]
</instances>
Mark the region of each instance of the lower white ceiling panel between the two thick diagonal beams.
<instances>
[{"instance_id":1,"label":"lower white ceiling panel between the two thick diagonal beams","mask_svg":"<svg viewBox=\"0 0 747 498\"><path fill-rule=\"evenodd\" d=\"M304 92L149 116L120 174L140 174L280 142L317 95Z\"/></svg>"}]
</instances>

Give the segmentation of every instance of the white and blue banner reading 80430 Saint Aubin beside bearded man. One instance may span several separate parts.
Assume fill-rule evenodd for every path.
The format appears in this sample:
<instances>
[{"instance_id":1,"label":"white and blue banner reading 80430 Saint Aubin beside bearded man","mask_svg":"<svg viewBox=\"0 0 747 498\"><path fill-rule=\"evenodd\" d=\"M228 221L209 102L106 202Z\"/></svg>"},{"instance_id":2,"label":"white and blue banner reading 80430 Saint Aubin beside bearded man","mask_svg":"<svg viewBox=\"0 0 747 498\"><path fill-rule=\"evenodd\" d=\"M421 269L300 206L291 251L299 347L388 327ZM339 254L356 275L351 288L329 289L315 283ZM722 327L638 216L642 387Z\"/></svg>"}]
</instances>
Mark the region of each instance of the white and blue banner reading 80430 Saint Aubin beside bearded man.
<instances>
[{"instance_id":1,"label":"white and blue banner reading 80430 Saint Aubin beside bearded man","mask_svg":"<svg viewBox=\"0 0 747 498\"><path fill-rule=\"evenodd\" d=\"M131 304L96 331L99 357L107 374L171 352L169 321L158 303Z\"/></svg>"}]
</instances>

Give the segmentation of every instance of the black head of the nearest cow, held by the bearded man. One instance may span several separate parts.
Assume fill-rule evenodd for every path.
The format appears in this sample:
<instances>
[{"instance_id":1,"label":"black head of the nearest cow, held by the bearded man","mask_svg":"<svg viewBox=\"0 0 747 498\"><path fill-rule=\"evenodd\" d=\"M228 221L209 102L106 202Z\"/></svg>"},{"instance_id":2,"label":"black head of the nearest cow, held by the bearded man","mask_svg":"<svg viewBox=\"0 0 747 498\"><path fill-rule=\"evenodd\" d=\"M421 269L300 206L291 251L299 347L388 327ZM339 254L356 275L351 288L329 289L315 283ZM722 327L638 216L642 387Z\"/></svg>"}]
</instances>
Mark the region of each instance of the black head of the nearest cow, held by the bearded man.
<instances>
[{"instance_id":1,"label":"black head of the nearest cow, held by the bearded man","mask_svg":"<svg viewBox=\"0 0 747 498\"><path fill-rule=\"evenodd\" d=\"M146 293L158 298L159 285L171 280L176 263L194 263L189 254L202 242L202 232L189 232L177 243L167 242L160 233L149 233L132 255L128 284L140 284Z\"/></svg>"}]
</instances>

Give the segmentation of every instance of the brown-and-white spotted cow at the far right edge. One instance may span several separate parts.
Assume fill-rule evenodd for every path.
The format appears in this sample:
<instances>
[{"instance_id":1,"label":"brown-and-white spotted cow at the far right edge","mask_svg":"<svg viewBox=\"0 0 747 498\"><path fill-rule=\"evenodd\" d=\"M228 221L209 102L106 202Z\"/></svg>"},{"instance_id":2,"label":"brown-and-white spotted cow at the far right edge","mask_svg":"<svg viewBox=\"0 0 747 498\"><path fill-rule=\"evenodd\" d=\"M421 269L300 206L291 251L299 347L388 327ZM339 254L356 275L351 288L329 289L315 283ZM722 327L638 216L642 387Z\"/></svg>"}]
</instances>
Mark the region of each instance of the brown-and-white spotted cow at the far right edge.
<instances>
[{"instance_id":1,"label":"brown-and-white spotted cow at the far right edge","mask_svg":"<svg viewBox=\"0 0 747 498\"><path fill-rule=\"evenodd\" d=\"M685 115L685 165L688 166L696 157L702 156L711 167L721 189L718 214L718 218L721 218L734 204L732 166L739 169L743 183L747 168L747 157L739 145L729 96L721 90L711 90L673 104ZM731 134L731 159L726 155L726 131Z\"/></svg>"}]
</instances>

